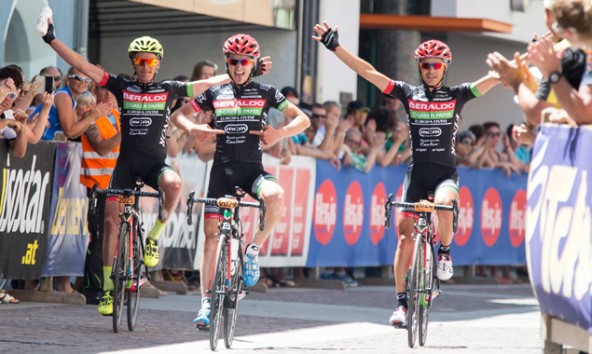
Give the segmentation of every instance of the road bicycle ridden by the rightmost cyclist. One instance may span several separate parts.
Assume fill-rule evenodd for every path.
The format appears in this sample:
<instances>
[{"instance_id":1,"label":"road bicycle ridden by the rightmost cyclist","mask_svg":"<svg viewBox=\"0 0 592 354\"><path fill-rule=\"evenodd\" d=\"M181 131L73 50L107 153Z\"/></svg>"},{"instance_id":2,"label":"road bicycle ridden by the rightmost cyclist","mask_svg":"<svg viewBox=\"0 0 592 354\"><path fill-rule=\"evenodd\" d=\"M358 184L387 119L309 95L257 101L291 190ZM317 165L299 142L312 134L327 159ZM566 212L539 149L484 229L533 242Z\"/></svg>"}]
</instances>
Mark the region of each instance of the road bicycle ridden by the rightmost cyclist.
<instances>
[{"instance_id":1,"label":"road bicycle ridden by the rightmost cyclist","mask_svg":"<svg viewBox=\"0 0 592 354\"><path fill-rule=\"evenodd\" d=\"M394 201L390 194L385 203L385 227L390 227L391 208L405 208L418 214L414 223L413 258L407 272L407 343L415 346L419 334L419 345L423 346L428 335L429 310L432 301L440 294L440 280L437 277L438 259L434 253L434 230L431 213L436 210L452 212L452 228L458 231L458 204L434 204L431 201L405 203ZM419 332L419 333L418 333Z\"/></svg>"}]
</instances>

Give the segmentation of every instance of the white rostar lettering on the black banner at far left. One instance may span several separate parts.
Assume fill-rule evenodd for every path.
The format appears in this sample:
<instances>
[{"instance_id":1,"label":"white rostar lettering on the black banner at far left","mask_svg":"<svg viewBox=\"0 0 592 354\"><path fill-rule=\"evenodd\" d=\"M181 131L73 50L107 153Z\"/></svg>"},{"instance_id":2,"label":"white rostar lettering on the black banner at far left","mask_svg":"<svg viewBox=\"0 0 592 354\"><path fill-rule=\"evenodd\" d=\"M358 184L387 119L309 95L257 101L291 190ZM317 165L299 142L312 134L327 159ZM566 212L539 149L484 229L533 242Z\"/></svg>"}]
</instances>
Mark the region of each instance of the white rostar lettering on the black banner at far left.
<instances>
[{"instance_id":1,"label":"white rostar lettering on the black banner at far left","mask_svg":"<svg viewBox=\"0 0 592 354\"><path fill-rule=\"evenodd\" d=\"M49 185L49 172L35 169L37 155L33 156L31 169L4 169L3 189L0 214L0 232L42 233L43 207L45 191Z\"/></svg>"}]
</instances>

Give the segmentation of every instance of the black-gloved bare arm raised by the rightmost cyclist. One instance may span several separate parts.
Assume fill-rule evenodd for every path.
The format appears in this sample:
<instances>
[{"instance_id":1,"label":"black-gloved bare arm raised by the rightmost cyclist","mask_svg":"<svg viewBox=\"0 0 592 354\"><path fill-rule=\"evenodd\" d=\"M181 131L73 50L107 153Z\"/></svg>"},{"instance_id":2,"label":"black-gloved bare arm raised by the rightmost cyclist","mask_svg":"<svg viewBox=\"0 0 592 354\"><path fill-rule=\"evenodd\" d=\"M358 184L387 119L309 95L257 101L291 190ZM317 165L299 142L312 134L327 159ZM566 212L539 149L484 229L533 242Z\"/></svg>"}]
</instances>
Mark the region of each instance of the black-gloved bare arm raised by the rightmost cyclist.
<instances>
[{"instance_id":1,"label":"black-gloved bare arm raised by the rightmost cyclist","mask_svg":"<svg viewBox=\"0 0 592 354\"><path fill-rule=\"evenodd\" d=\"M364 59L350 53L347 49L339 45L338 42L338 28L331 28L327 22L323 22L322 25L315 25L313 30L316 32L318 37L313 36L317 42L321 42L327 49L333 51L337 58L341 60L350 69L355 71L358 75L376 86L380 92L383 92L391 79L376 69Z\"/></svg>"}]
</instances>

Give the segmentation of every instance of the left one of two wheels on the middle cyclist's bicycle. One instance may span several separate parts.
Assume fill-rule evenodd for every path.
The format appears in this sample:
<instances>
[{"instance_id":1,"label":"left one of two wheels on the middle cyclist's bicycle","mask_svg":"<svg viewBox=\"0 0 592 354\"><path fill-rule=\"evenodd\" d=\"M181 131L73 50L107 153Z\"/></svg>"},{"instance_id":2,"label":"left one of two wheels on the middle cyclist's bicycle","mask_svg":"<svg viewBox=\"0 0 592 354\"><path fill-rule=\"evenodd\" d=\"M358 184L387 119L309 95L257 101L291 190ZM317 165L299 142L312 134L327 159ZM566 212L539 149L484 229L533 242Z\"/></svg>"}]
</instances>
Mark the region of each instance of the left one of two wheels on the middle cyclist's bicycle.
<instances>
[{"instance_id":1,"label":"left one of two wheels on the middle cyclist's bicycle","mask_svg":"<svg viewBox=\"0 0 592 354\"><path fill-rule=\"evenodd\" d=\"M220 338L220 327L222 310L224 307L224 281L226 271L226 244L224 237L220 236L216 250L216 263L214 265L214 276L212 278L212 300L210 310L210 349L216 350L218 339Z\"/></svg>"}]
</instances>

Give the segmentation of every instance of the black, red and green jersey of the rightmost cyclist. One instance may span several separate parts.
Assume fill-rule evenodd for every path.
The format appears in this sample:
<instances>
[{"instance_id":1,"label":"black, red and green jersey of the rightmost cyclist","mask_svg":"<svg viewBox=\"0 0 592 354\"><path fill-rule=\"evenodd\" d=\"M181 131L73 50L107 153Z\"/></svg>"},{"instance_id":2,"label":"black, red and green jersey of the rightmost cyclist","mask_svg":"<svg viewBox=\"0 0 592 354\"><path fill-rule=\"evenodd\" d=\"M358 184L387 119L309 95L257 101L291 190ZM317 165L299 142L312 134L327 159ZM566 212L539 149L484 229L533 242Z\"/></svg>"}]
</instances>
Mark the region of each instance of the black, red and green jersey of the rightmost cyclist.
<instances>
[{"instance_id":1,"label":"black, red and green jersey of the rightmost cyclist","mask_svg":"<svg viewBox=\"0 0 592 354\"><path fill-rule=\"evenodd\" d=\"M455 167L454 143L460 112L467 101L481 95L476 86L440 86L430 92L425 85L391 80L383 93L399 99L407 112L411 164L431 162Z\"/></svg>"}]
</instances>

